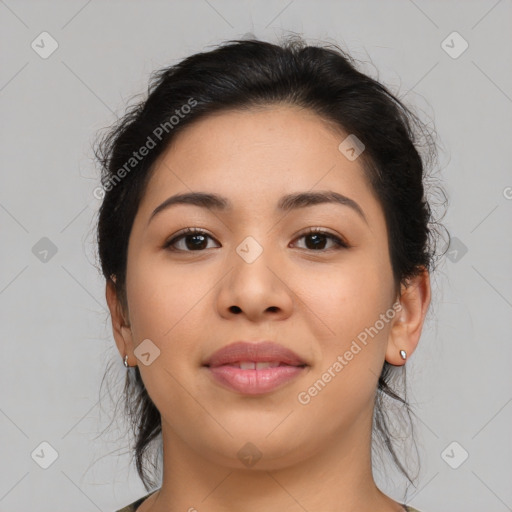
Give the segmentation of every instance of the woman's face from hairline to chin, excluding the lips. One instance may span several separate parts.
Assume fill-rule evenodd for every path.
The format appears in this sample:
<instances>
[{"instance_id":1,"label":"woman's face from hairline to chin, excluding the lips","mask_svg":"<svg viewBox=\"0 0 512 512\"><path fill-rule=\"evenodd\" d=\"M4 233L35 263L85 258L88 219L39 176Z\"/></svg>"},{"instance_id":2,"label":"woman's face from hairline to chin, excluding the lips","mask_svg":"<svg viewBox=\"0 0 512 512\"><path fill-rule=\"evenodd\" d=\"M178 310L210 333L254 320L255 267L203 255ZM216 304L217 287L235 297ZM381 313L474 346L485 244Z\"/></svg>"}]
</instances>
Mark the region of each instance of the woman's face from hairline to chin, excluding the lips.
<instances>
[{"instance_id":1,"label":"woman's face from hairline to chin, excluding the lips","mask_svg":"<svg viewBox=\"0 0 512 512\"><path fill-rule=\"evenodd\" d=\"M252 443L272 469L368 433L398 311L383 211L361 159L338 149L347 135L297 107L230 111L158 160L130 235L120 347L135 361L146 340L150 364L137 364L164 439L231 467ZM190 192L229 206L152 215ZM341 200L283 207L319 192ZM306 366L266 390L233 388L204 364L240 340L273 341Z\"/></svg>"}]
</instances>

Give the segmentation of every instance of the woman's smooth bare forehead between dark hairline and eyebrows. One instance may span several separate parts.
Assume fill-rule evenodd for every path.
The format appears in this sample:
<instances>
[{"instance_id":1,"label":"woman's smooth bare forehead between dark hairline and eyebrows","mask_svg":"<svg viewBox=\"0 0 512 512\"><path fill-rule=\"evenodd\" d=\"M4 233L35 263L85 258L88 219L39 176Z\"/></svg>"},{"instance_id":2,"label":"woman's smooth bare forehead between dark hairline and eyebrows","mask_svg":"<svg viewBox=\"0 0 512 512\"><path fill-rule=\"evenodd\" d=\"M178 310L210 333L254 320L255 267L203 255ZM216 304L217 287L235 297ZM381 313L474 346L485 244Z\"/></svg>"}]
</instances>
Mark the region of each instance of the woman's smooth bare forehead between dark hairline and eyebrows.
<instances>
[{"instance_id":1,"label":"woman's smooth bare forehead between dark hairline and eyebrows","mask_svg":"<svg viewBox=\"0 0 512 512\"><path fill-rule=\"evenodd\" d=\"M296 106L209 115L178 132L160 155L140 208L149 216L171 194L203 191L256 212L275 208L286 193L329 189L378 209L362 160L350 161L338 148L347 135Z\"/></svg>"}]
</instances>

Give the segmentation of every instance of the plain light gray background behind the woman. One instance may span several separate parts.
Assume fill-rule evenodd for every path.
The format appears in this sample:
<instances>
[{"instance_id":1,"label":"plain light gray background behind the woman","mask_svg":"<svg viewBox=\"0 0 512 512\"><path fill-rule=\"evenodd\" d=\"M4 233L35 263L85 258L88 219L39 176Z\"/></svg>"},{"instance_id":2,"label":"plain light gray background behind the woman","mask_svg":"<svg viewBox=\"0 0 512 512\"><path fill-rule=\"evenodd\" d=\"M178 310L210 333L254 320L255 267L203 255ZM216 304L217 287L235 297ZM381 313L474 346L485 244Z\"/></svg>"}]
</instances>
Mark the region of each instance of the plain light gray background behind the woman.
<instances>
[{"instance_id":1,"label":"plain light gray background behind the woman","mask_svg":"<svg viewBox=\"0 0 512 512\"><path fill-rule=\"evenodd\" d=\"M123 425L99 435L105 365L125 370L94 266L91 143L152 70L249 32L338 42L435 119L456 240L407 363L422 456L408 503L512 510L511 15L505 0L0 1L0 510L107 512L145 494ZM59 45L46 59L43 31Z\"/></svg>"}]
</instances>

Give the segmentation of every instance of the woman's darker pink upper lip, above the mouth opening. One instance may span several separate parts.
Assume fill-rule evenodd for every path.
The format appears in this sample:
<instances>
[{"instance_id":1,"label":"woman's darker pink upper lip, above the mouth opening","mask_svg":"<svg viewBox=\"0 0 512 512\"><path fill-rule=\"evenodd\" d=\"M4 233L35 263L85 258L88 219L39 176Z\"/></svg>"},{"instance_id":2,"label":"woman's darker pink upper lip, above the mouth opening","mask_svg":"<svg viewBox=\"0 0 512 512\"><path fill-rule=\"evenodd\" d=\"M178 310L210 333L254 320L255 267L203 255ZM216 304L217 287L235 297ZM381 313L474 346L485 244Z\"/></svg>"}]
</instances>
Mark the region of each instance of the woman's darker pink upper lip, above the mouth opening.
<instances>
[{"instance_id":1,"label":"woman's darker pink upper lip, above the mouth opening","mask_svg":"<svg viewBox=\"0 0 512 512\"><path fill-rule=\"evenodd\" d=\"M223 364L239 363L241 361L275 362L290 366L306 366L306 363L292 350L274 343L260 341L250 343L236 341L214 352L204 363L204 366L215 368Z\"/></svg>"}]
</instances>

